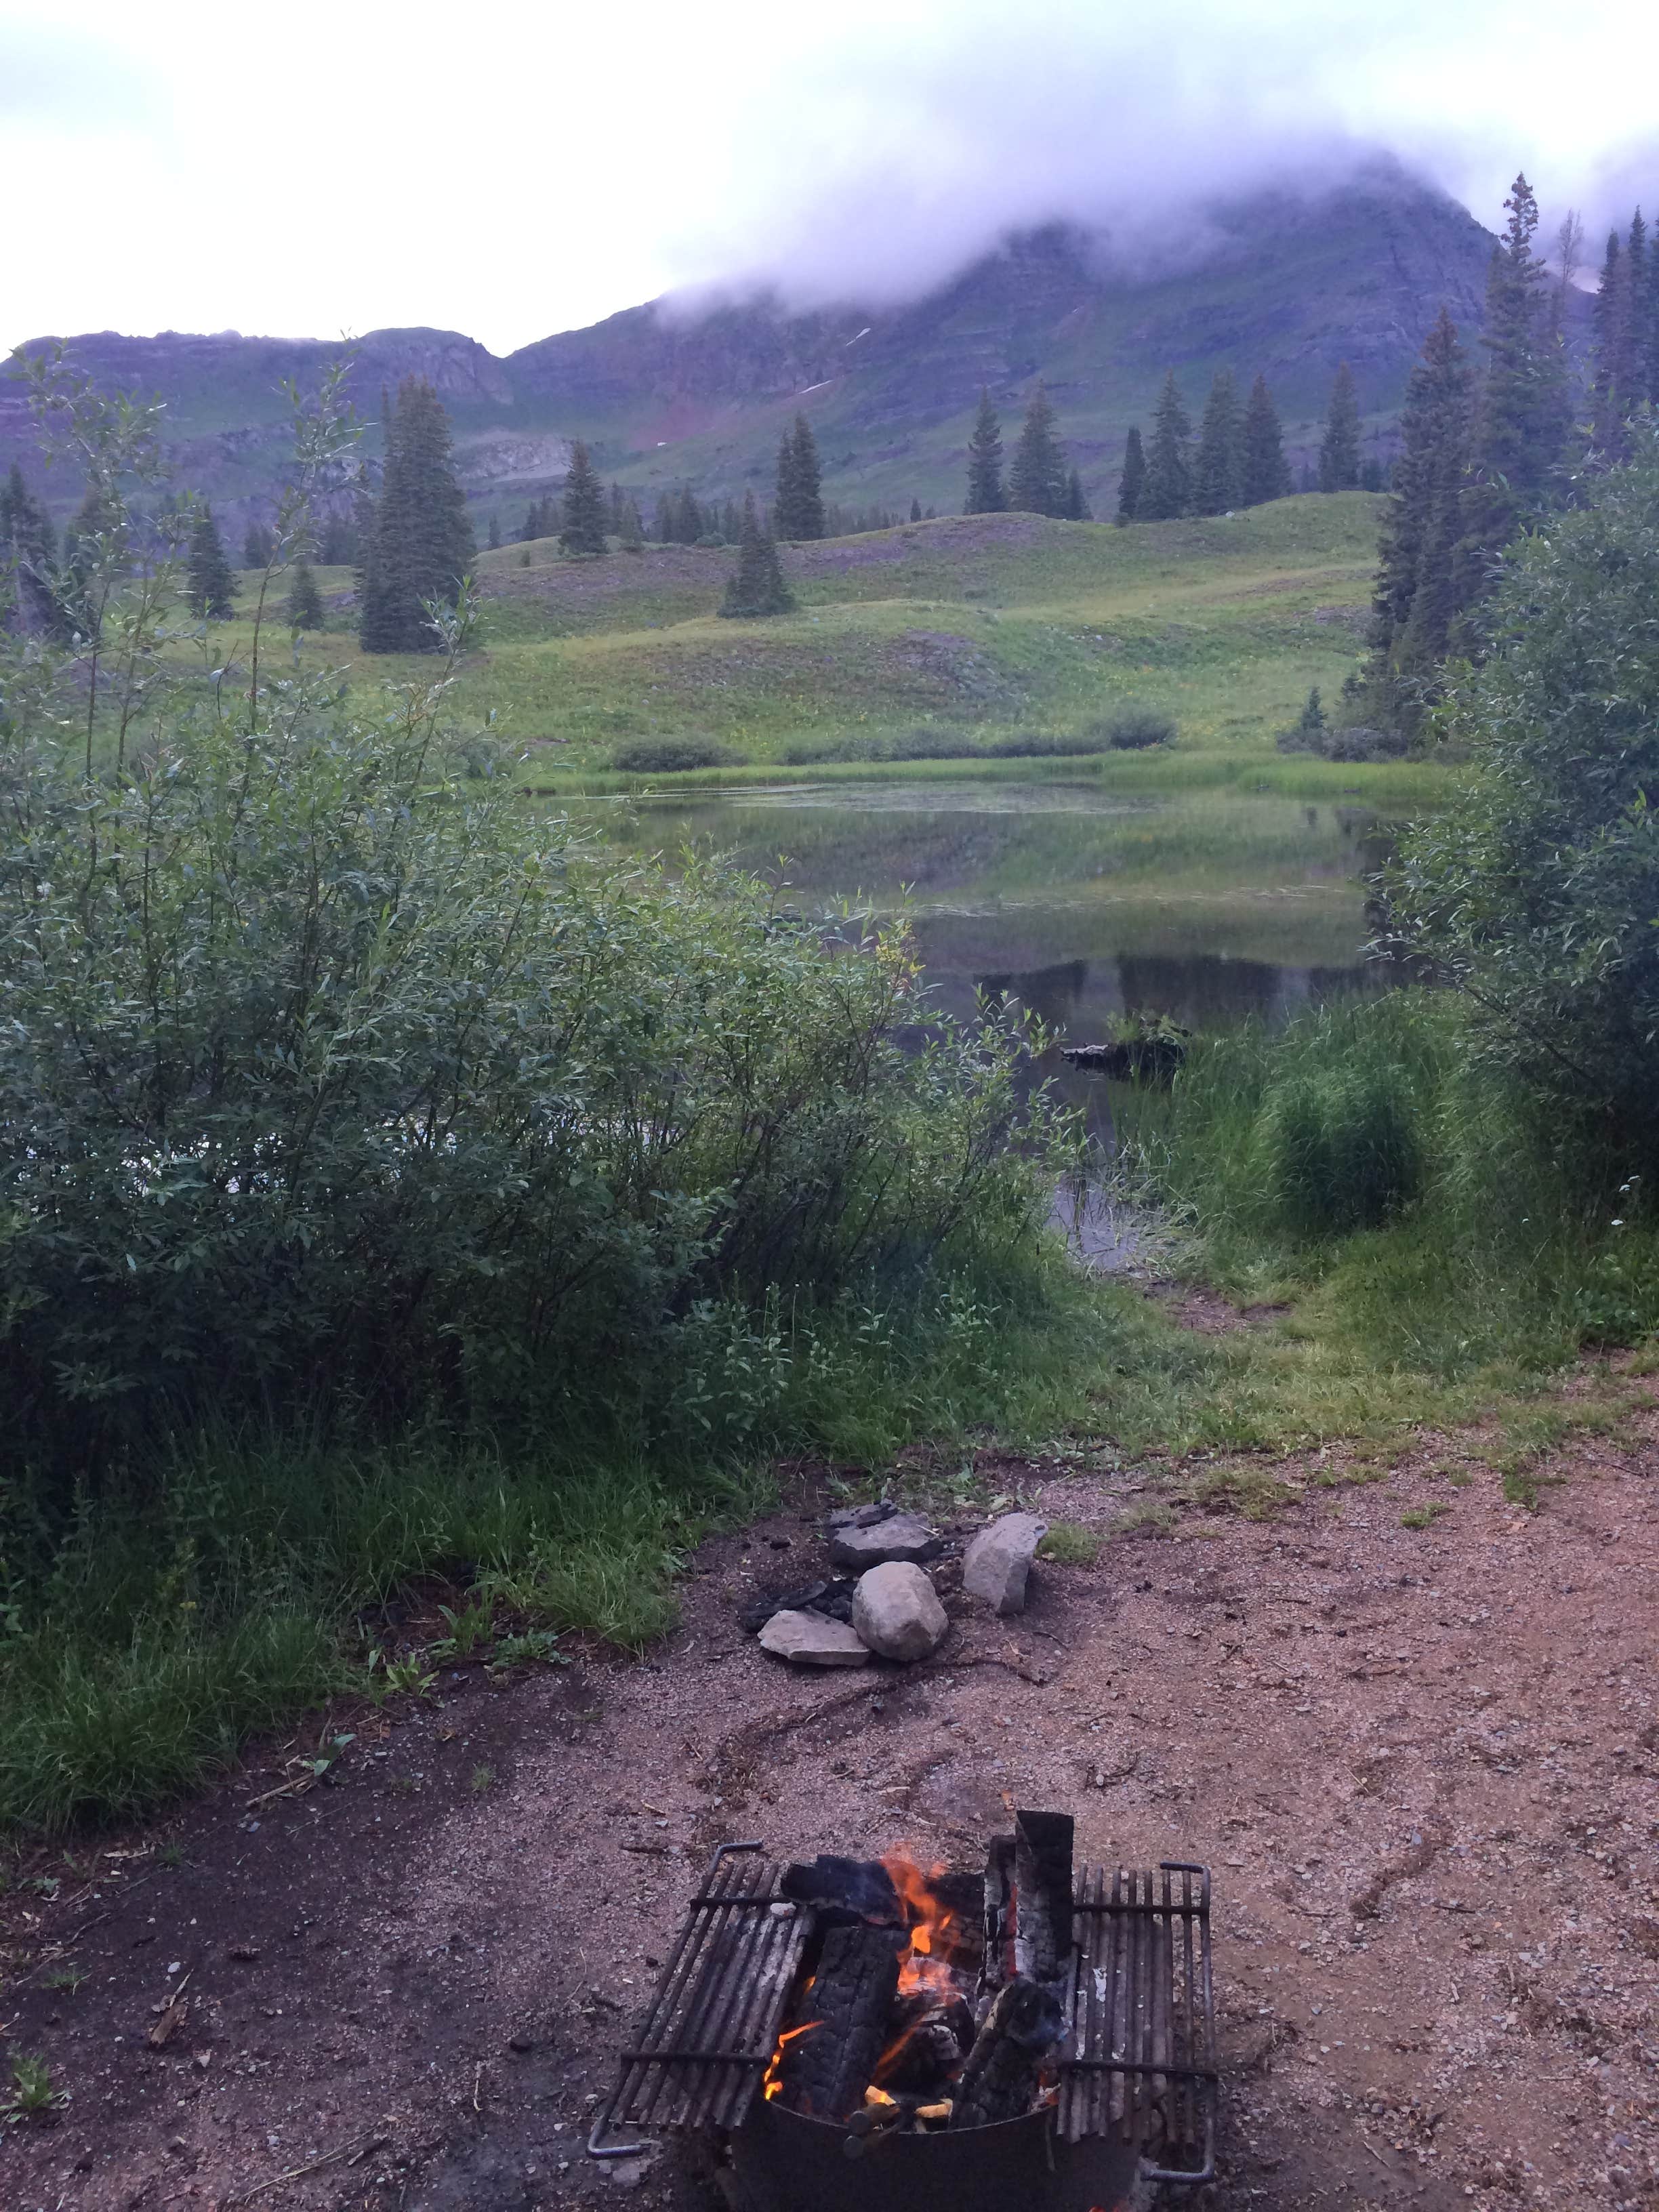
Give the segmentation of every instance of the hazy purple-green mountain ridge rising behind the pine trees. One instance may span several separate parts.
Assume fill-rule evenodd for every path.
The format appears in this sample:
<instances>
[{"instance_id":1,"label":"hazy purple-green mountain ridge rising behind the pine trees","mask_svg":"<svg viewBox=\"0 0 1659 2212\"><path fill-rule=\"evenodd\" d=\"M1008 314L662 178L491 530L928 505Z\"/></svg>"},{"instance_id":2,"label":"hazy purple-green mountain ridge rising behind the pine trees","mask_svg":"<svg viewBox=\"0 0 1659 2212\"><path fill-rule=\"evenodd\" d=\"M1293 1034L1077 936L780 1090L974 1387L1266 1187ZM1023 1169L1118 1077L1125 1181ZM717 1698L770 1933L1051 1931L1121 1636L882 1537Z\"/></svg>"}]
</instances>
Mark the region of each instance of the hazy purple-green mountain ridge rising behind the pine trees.
<instances>
[{"instance_id":1,"label":"hazy purple-green mountain ridge rising behind the pine trees","mask_svg":"<svg viewBox=\"0 0 1659 2212\"><path fill-rule=\"evenodd\" d=\"M914 489L953 504L980 387L1013 411L1042 376L1102 493L1124 429L1146 418L1170 367L1194 414L1217 367L1245 380L1261 369L1296 445L1349 361L1380 431L1440 303L1469 334L1478 327L1489 252L1464 208L1376 164L1321 195L1212 210L1159 265L1128 265L1110 239L1048 226L907 307L790 314L768 299L706 310L659 301L507 361L458 332L376 330L358 345L354 394L374 451L380 387L427 376L484 504L557 482L573 436L641 493L686 480L739 491L765 480L796 405L814 418L832 493L898 500ZM270 498L285 456L283 378L314 383L336 349L234 332L73 341L100 383L161 392L181 478L237 529ZM0 467L27 453L40 480L22 409L2 394ZM49 491L60 509L77 495L58 480Z\"/></svg>"}]
</instances>

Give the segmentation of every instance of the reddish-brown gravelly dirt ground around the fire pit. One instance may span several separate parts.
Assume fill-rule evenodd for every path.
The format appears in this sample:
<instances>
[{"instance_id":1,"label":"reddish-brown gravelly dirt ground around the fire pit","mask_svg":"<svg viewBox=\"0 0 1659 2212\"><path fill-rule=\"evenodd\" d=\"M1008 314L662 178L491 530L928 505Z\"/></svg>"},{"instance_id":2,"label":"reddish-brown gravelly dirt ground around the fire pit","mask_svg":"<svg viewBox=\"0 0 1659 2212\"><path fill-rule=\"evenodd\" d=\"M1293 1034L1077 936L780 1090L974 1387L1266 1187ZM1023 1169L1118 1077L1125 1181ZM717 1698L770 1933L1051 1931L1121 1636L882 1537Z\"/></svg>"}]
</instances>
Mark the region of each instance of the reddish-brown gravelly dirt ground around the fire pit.
<instances>
[{"instance_id":1,"label":"reddish-brown gravelly dirt ground around the fire pit","mask_svg":"<svg viewBox=\"0 0 1659 2212\"><path fill-rule=\"evenodd\" d=\"M259 1803L316 1730L265 1747L0 1907L9 2053L69 2090L4 2130L0 2203L692 2212L672 2157L582 2139L710 1847L973 1865L1006 1796L1214 1867L1197 2212L1659 2208L1659 1418L1557 1455L1537 1513L1464 1449L1464 1486L1444 1440L1352 1486L1310 1458L1270 1524L1117 1535L1018 1621L825 1677L734 1619L816 1564L796 1498L703 1548L641 1663L445 1672ZM1102 1528L1148 1480L1000 1473Z\"/></svg>"}]
</instances>

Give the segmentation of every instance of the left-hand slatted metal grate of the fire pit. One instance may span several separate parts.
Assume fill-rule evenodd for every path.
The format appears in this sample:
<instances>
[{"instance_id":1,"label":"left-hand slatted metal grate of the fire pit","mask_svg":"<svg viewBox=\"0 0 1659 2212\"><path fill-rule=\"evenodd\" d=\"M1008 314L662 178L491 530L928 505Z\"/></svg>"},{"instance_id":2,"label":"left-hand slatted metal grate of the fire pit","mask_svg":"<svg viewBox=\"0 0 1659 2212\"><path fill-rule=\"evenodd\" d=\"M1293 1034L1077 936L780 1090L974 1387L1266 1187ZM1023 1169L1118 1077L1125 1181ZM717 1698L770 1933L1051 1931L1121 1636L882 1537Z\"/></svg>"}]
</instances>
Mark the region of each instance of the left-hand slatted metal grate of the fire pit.
<instances>
[{"instance_id":1,"label":"left-hand slatted metal grate of the fire pit","mask_svg":"<svg viewBox=\"0 0 1659 2212\"><path fill-rule=\"evenodd\" d=\"M779 2039L810 1916L779 1898L783 1869L759 1843L723 1843L657 1982L639 2042L588 2137L595 2159L637 2143L613 2128L737 2128ZM774 1911L774 1907L779 1907Z\"/></svg>"}]
</instances>

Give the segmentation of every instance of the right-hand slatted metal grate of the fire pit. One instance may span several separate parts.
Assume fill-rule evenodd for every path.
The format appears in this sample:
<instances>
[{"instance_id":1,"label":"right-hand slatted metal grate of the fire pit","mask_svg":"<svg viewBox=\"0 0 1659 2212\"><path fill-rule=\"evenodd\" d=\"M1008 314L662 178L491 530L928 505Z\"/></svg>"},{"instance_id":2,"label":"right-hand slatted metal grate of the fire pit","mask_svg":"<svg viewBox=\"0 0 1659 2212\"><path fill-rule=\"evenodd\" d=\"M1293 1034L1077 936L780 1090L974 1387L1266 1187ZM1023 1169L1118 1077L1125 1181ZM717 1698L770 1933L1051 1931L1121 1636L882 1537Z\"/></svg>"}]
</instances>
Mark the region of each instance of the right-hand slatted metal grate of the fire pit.
<instances>
[{"instance_id":1,"label":"right-hand slatted metal grate of the fire pit","mask_svg":"<svg viewBox=\"0 0 1659 2212\"><path fill-rule=\"evenodd\" d=\"M1082 1867L1073 1902L1077 1980L1071 2057L1060 2068L1060 2132L1164 2146L1157 2179L1214 2170L1214 1989L1210 1869L1164 1860L1157 1874Z\"/></svg>"}]
</instances>

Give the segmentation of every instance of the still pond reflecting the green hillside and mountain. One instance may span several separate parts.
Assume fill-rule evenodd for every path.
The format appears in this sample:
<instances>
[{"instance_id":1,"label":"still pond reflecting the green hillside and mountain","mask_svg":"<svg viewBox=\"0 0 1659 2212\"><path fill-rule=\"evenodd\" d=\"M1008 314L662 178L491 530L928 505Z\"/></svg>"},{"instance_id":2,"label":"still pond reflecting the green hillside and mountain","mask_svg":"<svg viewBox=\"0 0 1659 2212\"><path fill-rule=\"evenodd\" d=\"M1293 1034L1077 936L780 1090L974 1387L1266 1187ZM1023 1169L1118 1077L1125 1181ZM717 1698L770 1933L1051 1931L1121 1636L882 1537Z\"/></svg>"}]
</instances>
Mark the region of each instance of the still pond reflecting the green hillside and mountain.
<instances>
[{"instance_id":1,"label":"still pond reflecting the green hillside and mountain","mask_svg":"<svg viewBox=\"0 0 1659 2212\"><path fill-rule=\"evenodd\" d=\"M1358 803L872 776L568 807L628 849L730 854L807 911L902 907L942 1011L971 1015L989 991L1071 1044L1124 1013L1223 1029L1378 987L1363 878L1387 825ZM1044 1073L1106 1137L1106 1082L1057 1053Z\"/></svg>"}]
</instances>

